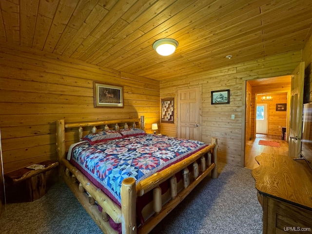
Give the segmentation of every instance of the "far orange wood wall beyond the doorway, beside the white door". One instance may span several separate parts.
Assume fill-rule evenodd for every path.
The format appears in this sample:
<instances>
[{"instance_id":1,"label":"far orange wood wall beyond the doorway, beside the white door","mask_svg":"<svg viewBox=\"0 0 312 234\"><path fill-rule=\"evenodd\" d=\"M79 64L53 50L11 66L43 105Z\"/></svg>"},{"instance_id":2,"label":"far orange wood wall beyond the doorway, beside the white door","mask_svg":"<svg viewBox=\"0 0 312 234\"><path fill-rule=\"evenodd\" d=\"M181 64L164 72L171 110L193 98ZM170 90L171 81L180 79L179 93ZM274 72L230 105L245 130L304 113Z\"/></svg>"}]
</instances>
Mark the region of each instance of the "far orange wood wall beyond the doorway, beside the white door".
<instances>
[{"instance_id":1,"label":"far orange wood wall beyond the doorway, beside the white door","mask_svg":"<svg viewBox=\"0 0 312 234\"><path fill-rule=\"evenodd\" d=\"M281 136L282 127L287 127L287 111L276 111L276 104L287 104L288 93L268 94L273 100L261 101L257 96L257 105L268 104L268 135Z\"/></svg>"}]
</instances>

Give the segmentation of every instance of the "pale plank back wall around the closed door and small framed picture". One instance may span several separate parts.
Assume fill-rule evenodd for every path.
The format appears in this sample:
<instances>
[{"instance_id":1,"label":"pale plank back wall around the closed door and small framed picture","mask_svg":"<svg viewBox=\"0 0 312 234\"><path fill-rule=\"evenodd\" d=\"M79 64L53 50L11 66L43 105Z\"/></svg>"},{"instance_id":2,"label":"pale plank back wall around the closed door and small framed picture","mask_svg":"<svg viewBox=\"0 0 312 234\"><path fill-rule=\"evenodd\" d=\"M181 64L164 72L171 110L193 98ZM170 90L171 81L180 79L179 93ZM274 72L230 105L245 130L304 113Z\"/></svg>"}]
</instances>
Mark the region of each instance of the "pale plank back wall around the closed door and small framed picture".
<instances>
[{"instance_id":1,"label":"pale plank back wall around the closed door and small framed picture","mask_svg":"<svg viewBox=\"0 0 312 234\"><path fill-rule=\"evenodd\" d=\"M242 97L245 96L246 80L290 75L300 61L299 51L161 81L160 97L176 97L179 88L201 85L202 140L209 143L211 137L217 137L219 160L243 166L242 139L245 127L242 116L245 115L245 100ZM230 104L211 105L211 91L224 89L231 90ZM231 119L232 114L235 119ZM161 124L161 129L167 125ZM172 124L166 134L176 136L176 124Z\"/></svg>"}]
</instances>

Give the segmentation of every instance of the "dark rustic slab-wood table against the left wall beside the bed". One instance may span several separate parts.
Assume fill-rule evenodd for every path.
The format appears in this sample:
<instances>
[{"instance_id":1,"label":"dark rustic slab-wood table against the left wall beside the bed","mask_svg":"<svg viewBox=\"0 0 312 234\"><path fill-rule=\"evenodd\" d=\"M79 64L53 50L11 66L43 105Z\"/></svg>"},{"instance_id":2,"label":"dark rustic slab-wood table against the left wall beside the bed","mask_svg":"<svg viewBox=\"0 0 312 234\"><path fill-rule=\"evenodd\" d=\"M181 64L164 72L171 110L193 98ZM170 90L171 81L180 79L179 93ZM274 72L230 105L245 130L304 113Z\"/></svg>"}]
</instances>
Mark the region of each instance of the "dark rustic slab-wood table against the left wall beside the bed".
<instances>
[{"instance_id":1,"label":"dark rustic slab-wood table against the left wall beside the bed","mask_svg":"<svg viewBox=\"0 0 312 234\"><path fill-rule=\"evenodd\" d=\"M4 174L9 202L34 201L46 193L45 173L59 165L59 162L43 161L43 168L32 170L21 168Z\"/></svg>"}]
</instances>

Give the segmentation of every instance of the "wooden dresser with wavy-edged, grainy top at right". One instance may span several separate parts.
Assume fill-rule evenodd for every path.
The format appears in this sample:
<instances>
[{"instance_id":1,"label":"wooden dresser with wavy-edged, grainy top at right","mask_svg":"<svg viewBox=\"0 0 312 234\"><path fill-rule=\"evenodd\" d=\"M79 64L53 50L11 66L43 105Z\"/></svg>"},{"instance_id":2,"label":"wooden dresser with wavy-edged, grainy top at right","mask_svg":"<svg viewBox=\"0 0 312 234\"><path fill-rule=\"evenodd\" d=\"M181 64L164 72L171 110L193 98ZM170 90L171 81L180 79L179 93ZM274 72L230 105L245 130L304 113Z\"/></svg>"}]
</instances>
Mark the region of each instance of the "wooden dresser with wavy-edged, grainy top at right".
<instances>
[{"instance_id":1,"label":"wooden dresser with wavy-edged, grainy top at right","mask_svg":"<svg viewBox=\"0 0 312 234\"><path fill-rule=\"evenodd\" d=\"M312 170L303 160L262 153L252 171L263 234L312 234Z\"/></svg>"}]
</instances>

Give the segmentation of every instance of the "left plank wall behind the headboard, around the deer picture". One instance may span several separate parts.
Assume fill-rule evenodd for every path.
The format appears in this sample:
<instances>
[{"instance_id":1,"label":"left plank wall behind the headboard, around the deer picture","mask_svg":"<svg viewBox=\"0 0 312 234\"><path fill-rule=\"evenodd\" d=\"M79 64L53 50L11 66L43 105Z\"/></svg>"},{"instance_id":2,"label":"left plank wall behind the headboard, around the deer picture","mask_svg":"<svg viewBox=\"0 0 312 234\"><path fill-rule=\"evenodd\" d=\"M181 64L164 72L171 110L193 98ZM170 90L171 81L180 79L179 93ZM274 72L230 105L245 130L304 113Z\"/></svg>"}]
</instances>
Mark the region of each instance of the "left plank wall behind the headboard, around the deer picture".
<instances>
[{"instance_id":1,"label":"left plank wall behind the headboard, around the deer picture","mask_svg":"<svg viewBox=\"0 0 312 234\"><path fill-rule=\"evenodd\" d=\"M10 47L9 45L7 47ZM94 108L93 81L123 85L124 108ZM56 120L160 119L159 81L40 51L0 47L4 171L56 160Z\"/></svg>"}]
</instances>

